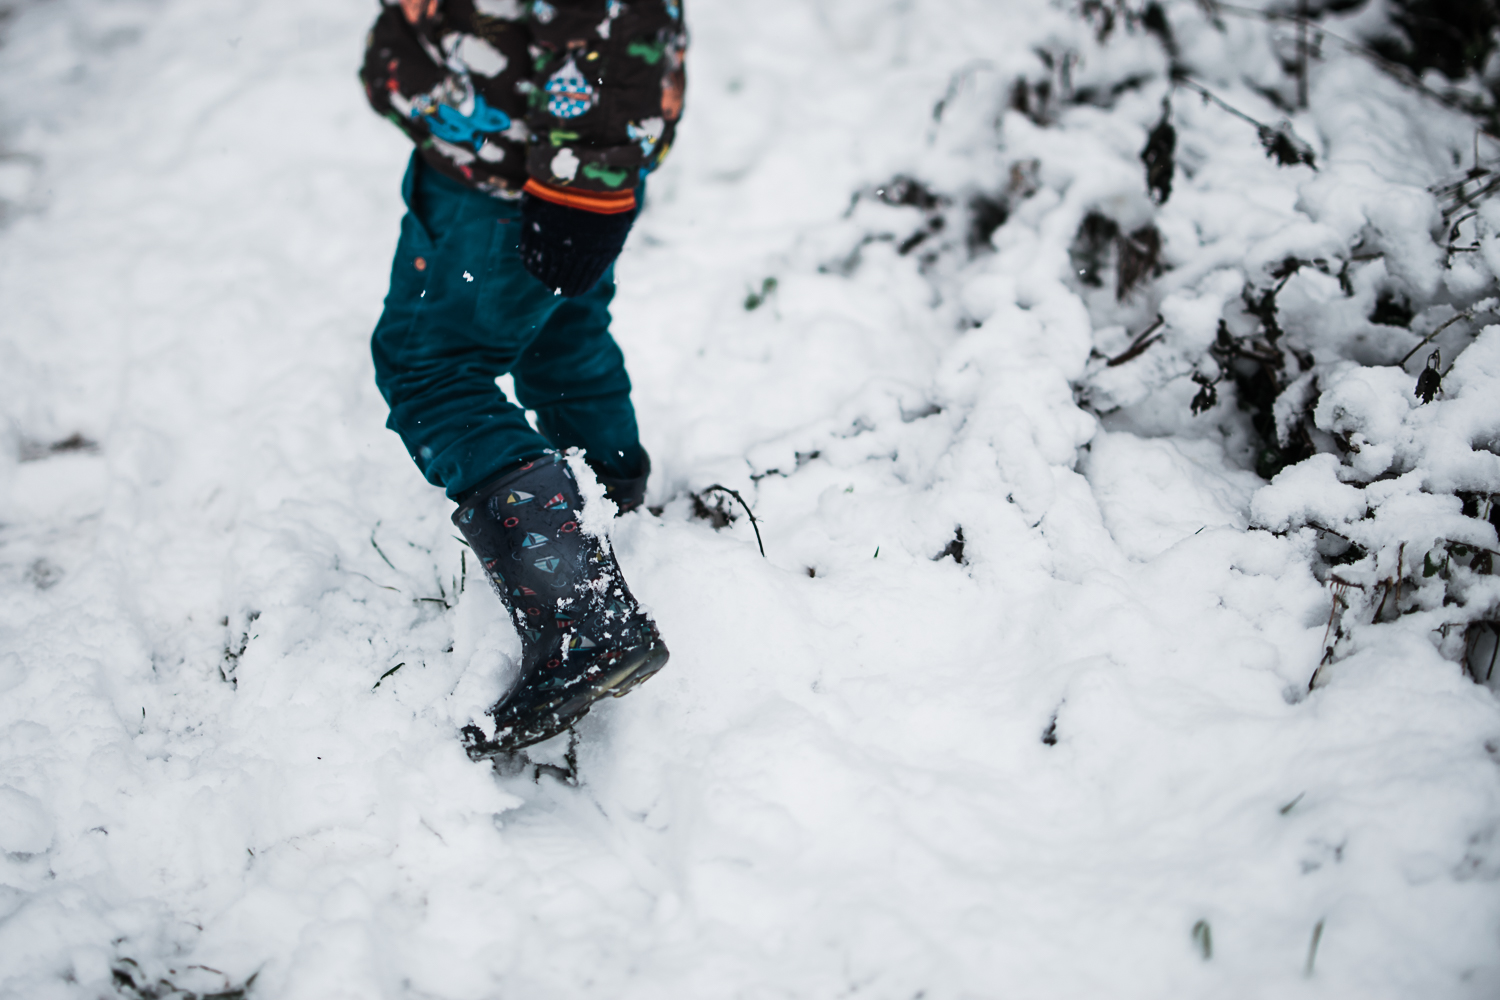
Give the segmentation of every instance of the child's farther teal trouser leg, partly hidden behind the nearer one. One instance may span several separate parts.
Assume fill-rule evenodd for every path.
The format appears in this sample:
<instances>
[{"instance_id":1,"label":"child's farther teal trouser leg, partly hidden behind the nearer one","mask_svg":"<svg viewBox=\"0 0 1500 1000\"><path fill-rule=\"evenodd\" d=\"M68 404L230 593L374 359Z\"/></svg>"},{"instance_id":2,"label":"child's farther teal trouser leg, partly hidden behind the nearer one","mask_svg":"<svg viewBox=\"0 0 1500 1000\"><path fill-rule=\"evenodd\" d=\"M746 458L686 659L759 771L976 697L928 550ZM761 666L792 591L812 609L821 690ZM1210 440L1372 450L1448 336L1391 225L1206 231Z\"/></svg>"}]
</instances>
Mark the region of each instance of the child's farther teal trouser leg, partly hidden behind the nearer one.
<instances>
[{"instance_id":1,"label":"child's farther teal trouser leg, partly hidden behind the nearer one","mask_svg":"<svg viewBox=\"0 0 1500 1000\"><path fill-rule=\"evenodd\" d=\"M556 448L584 448L608 475L632 478L645 451L630 405L630 376L609 336L614 268L592 291L564 298L516 361L516 399L537 414L537 427Z\"/></svg>"}]
</instances>

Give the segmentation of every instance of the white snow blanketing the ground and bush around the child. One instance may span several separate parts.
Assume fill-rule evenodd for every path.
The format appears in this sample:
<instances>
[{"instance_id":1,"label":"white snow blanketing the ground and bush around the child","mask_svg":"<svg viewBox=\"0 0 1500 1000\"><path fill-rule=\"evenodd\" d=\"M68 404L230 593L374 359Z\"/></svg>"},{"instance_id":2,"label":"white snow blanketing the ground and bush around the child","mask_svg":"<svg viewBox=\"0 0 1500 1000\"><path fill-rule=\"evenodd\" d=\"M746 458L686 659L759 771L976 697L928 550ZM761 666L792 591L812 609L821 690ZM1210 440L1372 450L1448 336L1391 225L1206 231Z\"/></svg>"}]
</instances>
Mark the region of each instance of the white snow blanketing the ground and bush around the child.
<instances>
[{"instance_id":1,"label":"white snow blanketing the ground and bush around the child","mask_svg":"<svg viewBox=\"0 0 1500 1000\"><path fill-rule=\"evenodd\" d=\"M1281 115L1264 25L1167 9L1200 79ZM45 0L4 27L0 997L1500 994L1494 694L1430 633L1442 600L1310 693L1334 594L1298 528L1364 487L1311 462L1268 489L1230 387L1188 409L1275 261L1365 238L1389 280L1446 280L1410 231L1462 118L1330 58L1293 115L1320 169L1282 168L1179 90L1158 210L1144 33L694 0L616 309L660 514L614 540L674 655L585 720L570 781L566 741L496 774L456 739L519 645L382 429L408 147L354 78L372 16ZM1053 99L1134 82L1010 109L1059 66ZM946 207L890 204L903 174ZM969 252L975 192L1008 219ZM1090 211L1155 220L1138 301L1076 280ZM1386 270L1342 333L1404 351L1359 325ZM1334 300L1306 268L1282 324ZM1106 366L1156 312L1166 340ZM1497 339L1413 414L1492 433ZM711 484L765 558L694 516Z\"/></svg>"}]
</instances>

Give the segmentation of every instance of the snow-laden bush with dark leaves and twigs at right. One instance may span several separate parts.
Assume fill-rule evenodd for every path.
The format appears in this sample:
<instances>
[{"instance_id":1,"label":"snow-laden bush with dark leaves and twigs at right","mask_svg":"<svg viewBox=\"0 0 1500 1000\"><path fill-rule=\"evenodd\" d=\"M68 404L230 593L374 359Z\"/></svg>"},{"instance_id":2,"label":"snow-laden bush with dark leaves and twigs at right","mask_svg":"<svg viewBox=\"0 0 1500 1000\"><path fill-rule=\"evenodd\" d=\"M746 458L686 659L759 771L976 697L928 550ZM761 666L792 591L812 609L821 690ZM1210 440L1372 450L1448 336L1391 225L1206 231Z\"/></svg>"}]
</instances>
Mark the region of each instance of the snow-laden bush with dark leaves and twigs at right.
<instances>
[{"instance_id":1,"label":"snow-laden bush with dark leaves and twigs at right","mask_svg":"<svg viewBox=\"0 0 1500 1000\"><path fill-rule=\"evenodd\" d=\"M1095 331L1080 406L1269 480L1251 528L1304 540L1330 588L1324 666L1400 627L1496 684L1492 4L1070 12L1029 69L954 75L922 175L858 192L824 270L888 243L980 325L987 258L1064 231Z\"/></svg>"}]
</instances>

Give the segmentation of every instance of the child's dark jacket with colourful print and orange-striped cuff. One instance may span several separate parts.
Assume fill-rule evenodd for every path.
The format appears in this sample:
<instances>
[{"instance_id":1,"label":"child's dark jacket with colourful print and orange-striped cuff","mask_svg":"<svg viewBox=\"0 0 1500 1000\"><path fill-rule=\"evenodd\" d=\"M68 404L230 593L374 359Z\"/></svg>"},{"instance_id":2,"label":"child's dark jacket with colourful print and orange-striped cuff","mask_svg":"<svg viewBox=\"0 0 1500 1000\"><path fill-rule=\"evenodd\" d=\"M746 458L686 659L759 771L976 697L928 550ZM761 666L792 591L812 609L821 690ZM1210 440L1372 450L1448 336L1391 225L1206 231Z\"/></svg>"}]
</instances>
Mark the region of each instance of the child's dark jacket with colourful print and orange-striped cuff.
<instances>
[{"instance_id":1,"label":"child's dark jacket with colourful print and orange-striped cuff","mask_svg":"<svg viewBox=\"0 0 1500 1000\"><path fill-rule=\"evenodd\" d=\"M382 0L360 78L448 177L630 211L682 114L681 1Z\"/></svg>"}]
</instances>

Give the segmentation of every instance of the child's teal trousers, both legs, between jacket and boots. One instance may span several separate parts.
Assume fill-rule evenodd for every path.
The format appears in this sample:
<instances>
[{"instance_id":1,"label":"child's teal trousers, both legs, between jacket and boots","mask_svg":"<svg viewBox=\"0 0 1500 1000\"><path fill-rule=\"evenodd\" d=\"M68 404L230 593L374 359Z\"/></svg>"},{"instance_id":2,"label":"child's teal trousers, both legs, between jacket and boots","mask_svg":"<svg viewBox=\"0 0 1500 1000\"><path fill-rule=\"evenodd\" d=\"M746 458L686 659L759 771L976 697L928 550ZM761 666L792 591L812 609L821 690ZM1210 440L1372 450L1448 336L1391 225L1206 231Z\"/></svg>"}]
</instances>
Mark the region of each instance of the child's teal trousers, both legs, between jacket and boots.
<instances>
[{"instance_id":1,"label":"child's teal trousers, both legs, between jacket and boots","mask_svg":"<svg viewBox=\"0 0 1500 1000\"><path fill-rule=\"evenodd\" d=\"M573 447L610 475L638 475L645 453L630 376L609 334L614 268L584 295L555 295L520 265L516 202L450 180L416 153L400 193L406 214L370 351L386 426L428 481L458 499ZM506 373L516 402L495 384Z\"/></svg>"}]
</instances>

